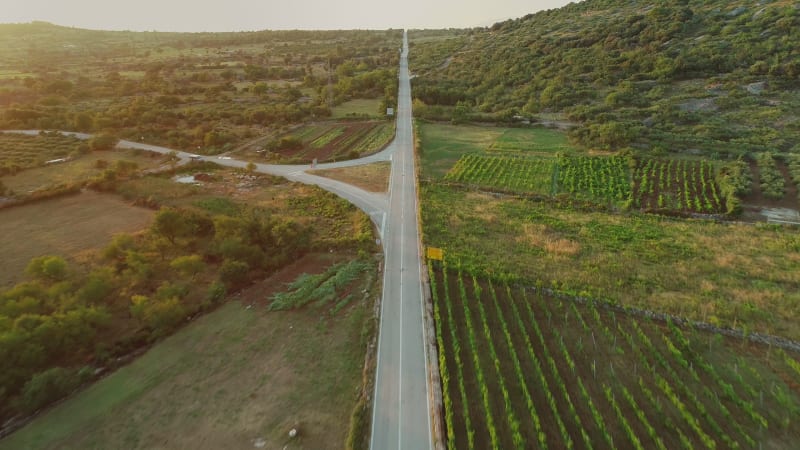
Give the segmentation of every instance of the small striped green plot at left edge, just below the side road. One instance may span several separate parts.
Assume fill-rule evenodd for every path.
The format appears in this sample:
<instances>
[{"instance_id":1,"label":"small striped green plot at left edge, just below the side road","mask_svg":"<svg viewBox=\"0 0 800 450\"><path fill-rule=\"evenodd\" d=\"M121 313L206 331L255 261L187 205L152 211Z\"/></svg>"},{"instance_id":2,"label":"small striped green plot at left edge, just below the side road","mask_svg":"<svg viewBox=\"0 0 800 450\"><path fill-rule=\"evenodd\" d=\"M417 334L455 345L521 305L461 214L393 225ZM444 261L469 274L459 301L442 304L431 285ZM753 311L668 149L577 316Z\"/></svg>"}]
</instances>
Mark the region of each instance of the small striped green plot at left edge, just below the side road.
<instances>
[{"instance_id":1,"label":"small striped green plot at left edge, just below the side road","mask_svg":"<svg viewBox=\"0 0 800 450\"><path fill-rule=\"evenodd\" d=\"M85 151L88 151L86 142L73 136L0 133L0 175L41 166L46 161Z\"/></svg>"}]
</instances>

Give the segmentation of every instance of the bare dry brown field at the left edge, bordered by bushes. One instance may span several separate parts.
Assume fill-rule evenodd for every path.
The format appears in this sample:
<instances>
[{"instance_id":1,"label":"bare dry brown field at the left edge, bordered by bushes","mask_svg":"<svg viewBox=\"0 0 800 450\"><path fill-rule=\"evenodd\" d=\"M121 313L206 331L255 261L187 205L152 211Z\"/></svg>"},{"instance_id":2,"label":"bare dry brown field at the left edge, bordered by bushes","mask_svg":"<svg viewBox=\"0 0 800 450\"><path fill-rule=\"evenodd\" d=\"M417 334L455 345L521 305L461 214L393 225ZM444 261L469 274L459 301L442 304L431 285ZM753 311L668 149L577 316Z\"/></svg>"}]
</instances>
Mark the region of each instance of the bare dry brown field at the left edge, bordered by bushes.
<instances>
[{"instance_id":1,"label":"bare dry brown field at the left edge, bordered by bushes","mask_svg":"<svg viewBox=\"0 0 800 450\"><path fill-rule=\"evenodd\" d=\"M120 232L141 230L153 212L130 206L111 195L87 191L0 210L0 286L22 278L31 258L79 256L106 245Z\"/></svg>"}]
</instances>

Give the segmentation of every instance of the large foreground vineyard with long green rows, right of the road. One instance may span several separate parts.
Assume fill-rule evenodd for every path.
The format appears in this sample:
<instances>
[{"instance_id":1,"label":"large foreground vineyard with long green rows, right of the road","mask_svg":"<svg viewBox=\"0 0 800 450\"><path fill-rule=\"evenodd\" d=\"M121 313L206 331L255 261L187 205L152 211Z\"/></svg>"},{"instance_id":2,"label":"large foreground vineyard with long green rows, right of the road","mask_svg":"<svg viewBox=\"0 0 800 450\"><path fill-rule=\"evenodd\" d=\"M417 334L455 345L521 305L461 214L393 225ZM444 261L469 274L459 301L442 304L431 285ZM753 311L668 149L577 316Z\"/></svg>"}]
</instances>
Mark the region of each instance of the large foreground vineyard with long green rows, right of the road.
<instances>
[{"instance_id":1,"label":"large foreground vineyard with long green rows, right of the road","mask_svg":"<svg viewBox=\"0 0 800 450\"><path fill-rule=\"evenodd\" d=\"M431 270L448 448L791 448L797 355Z\"/></svg>"}]
</instances>

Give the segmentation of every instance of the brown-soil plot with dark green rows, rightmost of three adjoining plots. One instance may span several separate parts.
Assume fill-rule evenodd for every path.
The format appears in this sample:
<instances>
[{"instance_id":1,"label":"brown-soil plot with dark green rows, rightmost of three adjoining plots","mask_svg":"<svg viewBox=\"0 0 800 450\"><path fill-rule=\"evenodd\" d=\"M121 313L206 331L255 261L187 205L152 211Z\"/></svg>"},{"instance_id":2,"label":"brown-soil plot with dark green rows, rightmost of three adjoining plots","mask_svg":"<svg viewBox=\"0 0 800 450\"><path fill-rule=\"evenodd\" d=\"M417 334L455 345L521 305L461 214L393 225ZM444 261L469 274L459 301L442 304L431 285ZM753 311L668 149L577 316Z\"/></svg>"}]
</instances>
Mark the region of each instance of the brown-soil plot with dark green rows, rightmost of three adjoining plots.
<instances>
[{"instance_id":1,"label":"brown-soil plot with dark green rows, rightmost of three adjoining plots","mask_svg":"<svg viewBox=\"0 0 800 450\"><path fill-rule=\"evenodd\" d=\"M633 206L714 214L725 211L714 166L708 161L643 159L633 172Z\"/></svg>"}]
</instances>

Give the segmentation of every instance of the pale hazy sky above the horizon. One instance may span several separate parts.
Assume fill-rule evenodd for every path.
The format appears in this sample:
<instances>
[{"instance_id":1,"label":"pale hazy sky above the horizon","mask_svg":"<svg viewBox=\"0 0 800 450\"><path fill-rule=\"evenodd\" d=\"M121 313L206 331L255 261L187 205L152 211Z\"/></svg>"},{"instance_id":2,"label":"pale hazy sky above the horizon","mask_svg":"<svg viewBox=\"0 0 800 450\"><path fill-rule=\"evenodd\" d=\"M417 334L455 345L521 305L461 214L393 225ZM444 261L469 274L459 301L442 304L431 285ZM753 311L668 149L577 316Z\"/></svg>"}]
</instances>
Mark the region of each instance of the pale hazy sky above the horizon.
<instances>
[{"instance_id":1,"label":"pale hazy sky above the horizon","mask_svg":"<svg viewBox=\"0 0 800 450\"><path fill-rule=\"evenodd\" d=\"M568 0L2 0L0 23L136 31L448 28L491 25Z\"/></svg>"}]
</instances>

